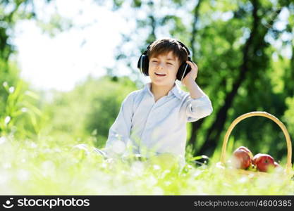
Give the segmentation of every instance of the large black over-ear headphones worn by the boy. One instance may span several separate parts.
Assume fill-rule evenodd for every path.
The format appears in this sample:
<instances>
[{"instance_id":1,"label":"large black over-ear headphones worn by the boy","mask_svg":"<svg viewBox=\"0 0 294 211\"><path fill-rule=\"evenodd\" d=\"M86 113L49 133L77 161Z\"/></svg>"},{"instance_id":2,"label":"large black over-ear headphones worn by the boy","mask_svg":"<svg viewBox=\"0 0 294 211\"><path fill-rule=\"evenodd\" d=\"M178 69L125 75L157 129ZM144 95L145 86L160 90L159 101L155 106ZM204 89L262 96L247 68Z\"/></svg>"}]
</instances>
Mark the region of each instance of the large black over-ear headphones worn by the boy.
<instances>
[{"instance_id":1,"label":"large black over-ear headphones worn by the boy","mask_svg":"<svg viewBox=\"0 0 294 211\"><path fill-rule=\"evenodd\" d=\"M176 40L176 41L178 42L178 44L180 44L180 46L182 46L187 51L188 60L192 61L189 49L181 41L178 41L178 40ZM142 55L140 56L140 58L137 62L137 68L142 72L143 75L146 75L146 76L149 75L148 74L149 58L147 56L147 52L149 51L152 43L149 44L149 46L147 46L147 50L144 53L142 53ZM182 81L182 79L188 74L188 72L190 72L190 70L191 70L190 65L183 62L182 64L180 64L180 68L178 68L176 79L178 79L179 81Z\"/></svg>"}]
</instances>

